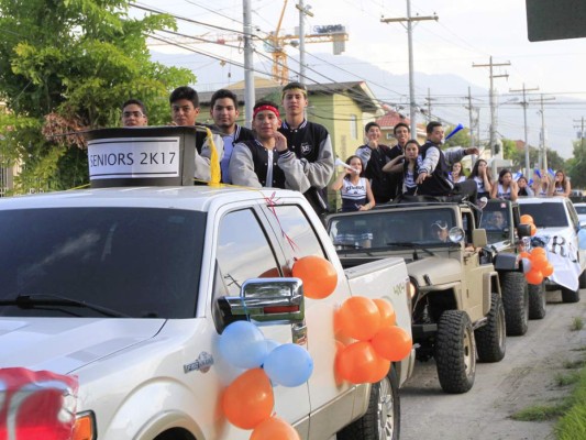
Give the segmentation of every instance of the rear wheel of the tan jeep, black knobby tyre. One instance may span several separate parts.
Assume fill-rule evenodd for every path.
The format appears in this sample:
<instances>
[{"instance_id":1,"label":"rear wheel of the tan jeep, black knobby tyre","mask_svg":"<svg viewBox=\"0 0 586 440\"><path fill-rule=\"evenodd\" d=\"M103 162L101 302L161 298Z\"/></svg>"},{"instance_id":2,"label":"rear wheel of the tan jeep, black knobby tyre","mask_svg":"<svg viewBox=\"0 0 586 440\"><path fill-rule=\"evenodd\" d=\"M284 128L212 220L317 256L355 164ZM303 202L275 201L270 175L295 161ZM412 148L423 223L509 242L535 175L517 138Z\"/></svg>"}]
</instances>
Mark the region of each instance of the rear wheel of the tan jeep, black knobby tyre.
<instances>
[{"instance_id":1,"label":"rear wheel of the tan jeep, black knobby tyre","mask_svg":"<svg viewBox=\"0 0 586 440\"><path fill-rule=\"evenodd\" d=\"M488 322L474 331L476 351L480 362L498 362L505 358L507 337L505 326L505 308L498 294L490 298L490 312Z\"/></svg>"}]
</instances>

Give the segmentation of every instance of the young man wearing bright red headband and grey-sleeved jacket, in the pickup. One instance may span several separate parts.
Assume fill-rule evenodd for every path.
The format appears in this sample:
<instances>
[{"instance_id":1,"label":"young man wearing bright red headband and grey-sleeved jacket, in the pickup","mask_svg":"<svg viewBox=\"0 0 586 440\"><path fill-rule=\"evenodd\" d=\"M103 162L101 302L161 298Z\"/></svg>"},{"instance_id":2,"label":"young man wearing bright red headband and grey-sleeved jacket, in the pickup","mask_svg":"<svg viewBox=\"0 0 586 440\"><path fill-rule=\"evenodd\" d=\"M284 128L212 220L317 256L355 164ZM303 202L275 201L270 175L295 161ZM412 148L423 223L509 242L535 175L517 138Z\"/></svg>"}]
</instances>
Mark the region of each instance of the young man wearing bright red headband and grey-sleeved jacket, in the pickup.
<instances>
[{"instance_id":1,"label":"young man wearing bright red headband and grey-sleeved jacket, in the pickup","mask_svg":"<svg viewBox=\"0 0 586 440\"><path fill-rule=\"evenodd\" d=\"M254 188L273 187L296 189L294 167L283 160L288 152L287 140L278 132L280 127L277 105L258 101L253 110L253 130L256 139L234 145L230 158L230 176L234 185Z\"/></svg>"}]
</instances>

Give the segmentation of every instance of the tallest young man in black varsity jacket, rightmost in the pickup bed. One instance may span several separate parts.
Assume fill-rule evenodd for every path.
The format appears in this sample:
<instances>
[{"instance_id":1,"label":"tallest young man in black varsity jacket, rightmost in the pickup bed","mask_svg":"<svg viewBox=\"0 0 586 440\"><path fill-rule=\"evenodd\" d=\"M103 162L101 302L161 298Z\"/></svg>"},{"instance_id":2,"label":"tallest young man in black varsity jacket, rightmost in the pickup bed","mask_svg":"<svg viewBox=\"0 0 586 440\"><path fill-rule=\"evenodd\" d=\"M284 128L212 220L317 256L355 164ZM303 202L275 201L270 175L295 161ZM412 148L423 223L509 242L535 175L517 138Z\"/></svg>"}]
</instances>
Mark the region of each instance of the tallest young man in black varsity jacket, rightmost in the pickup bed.
<instances>
[{"instance_id":1,"label":"tallest young man in black varsity jacket, rightmost in the pickup bed","mask_svg":"<svg viewBox=\"0 0 586 440\"><path fill-rule=\"evenodd\" d=\"M279 132L287 139L287 151L279 151L279 166L286 167L292 179L288 188L303 193L318 215L328 211L327 187L333 175L332 141L323 125L305 118L308 106L307 88L289 82L283 88L285 120Z\"/></svg>"}]
</instances>

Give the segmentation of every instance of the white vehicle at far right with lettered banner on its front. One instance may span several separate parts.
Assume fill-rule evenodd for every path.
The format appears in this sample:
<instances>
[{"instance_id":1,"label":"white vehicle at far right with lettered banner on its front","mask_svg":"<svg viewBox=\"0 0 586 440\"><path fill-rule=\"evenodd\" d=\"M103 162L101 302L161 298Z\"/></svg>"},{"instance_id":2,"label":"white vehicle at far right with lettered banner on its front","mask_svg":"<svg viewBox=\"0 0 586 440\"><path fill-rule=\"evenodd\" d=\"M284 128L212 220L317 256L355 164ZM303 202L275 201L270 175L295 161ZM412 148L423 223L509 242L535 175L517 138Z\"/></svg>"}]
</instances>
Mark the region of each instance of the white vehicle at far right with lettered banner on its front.
<instances>
[{"instance_id":1,"label":"white vehicle at far right with lettered banner on its front","mask_svg":"<svg viewBox=\"0 0 586 440\"><path fill-rule=\"evenodd\" d=\"M579 289L586 288L586 250L579 248L579 235L586 230L579 227L574 205L565 197L520 198L518 202L521 215L530 215L538 228L532 243L542 241L554 267L548 287L560 288L564 302L579 301Z\"/></svg>"}]
</instances>

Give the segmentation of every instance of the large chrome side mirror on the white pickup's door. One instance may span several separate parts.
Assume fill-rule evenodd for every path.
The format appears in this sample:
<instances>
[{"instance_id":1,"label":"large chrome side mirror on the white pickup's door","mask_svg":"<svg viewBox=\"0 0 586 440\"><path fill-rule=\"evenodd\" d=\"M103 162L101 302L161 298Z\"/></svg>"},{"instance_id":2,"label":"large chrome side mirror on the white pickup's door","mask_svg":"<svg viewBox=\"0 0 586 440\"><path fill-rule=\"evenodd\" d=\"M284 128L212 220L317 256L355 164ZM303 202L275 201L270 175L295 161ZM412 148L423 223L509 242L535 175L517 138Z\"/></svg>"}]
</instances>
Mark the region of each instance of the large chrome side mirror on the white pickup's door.
<instances>
[{"instance_id":1,"label":"large chrome side mirror on the white pickup's door","mask_svg":"<svg viewBox=\"0 0 586 440\"><path fill-rule=\"evenodd\" d=\"M299 278L251 278L240 296L218 299L224 322L250 319L258 322L303 322L303 283Z\"/></svg>"}]
</instances>

